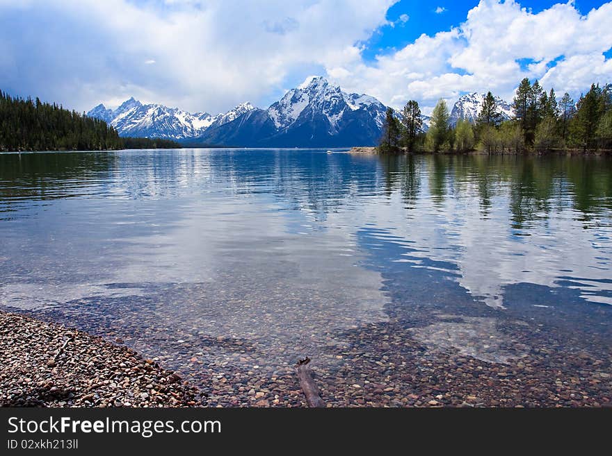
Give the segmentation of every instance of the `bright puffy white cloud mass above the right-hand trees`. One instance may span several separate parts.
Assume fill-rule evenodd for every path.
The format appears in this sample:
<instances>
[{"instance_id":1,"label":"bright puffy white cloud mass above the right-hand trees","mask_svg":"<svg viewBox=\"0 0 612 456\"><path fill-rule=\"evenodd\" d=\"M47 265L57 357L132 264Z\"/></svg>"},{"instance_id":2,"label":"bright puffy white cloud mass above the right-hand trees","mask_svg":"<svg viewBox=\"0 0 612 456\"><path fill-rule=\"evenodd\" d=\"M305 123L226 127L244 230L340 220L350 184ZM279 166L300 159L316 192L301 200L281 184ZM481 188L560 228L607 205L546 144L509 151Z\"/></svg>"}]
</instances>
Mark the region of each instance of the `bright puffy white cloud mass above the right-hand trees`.
<instances>
[{"instance_id":1,"label":"bright puffy white cloud mass above the right-hand trees","mask_svg":"<svg viewBox=\"0 0 612 456\"><path fill-rule=\"evenodd\" d=\"M511 101L524 77L577 96L593 82L612 82L612 60L604 57L612 47L611 18L611 2L581 16L573 2L533 14L512 0L482 0L451 31L421 35L373 64L355 58L333 65L328 74L395 108L417 99L427 110L440 97L488 90ZM522 68L521 59L529 65Z\"/></svg>"}]
</instances>

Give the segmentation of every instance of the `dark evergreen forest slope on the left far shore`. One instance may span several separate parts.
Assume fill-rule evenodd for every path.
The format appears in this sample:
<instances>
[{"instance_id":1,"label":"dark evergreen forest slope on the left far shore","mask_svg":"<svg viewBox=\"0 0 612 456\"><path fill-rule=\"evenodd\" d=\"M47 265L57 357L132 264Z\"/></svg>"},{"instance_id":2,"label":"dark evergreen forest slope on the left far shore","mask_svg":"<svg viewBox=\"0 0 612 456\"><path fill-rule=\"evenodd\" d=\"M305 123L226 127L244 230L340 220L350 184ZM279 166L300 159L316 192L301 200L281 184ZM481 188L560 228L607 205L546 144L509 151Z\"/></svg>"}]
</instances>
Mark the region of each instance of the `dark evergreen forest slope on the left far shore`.
<instances>
[{"instance_id":1,"label":"dark evergreen forest slope on the left far shore","mask_svg":"<svg viewBox=\"0 0 612 456\"><path fill-rule=\"evenodd\" d=\"M177 142L123 138L105 121L40 99L22 99L0 90L0 151L99 151L178 148Z\"/></svg>"}]
</instances>

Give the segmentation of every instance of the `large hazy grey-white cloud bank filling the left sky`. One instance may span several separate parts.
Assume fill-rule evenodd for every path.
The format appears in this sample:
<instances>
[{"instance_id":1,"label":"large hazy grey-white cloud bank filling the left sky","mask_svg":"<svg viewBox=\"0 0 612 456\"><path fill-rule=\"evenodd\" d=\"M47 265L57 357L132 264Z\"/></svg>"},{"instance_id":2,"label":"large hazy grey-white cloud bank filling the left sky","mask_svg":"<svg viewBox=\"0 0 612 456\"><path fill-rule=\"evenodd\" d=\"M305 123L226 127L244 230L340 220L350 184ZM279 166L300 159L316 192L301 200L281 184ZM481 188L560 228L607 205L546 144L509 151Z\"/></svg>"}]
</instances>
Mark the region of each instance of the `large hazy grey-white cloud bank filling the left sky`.
<instances>
[{"instance_id":1,"label":"large hazy grey-white cloud bank filling the left sky","mask_svg":"<svg viewBox=\"0 0 612 456\"><path fill-rule=\"evenodd\" d=\"M0 0L0 87L79 110L134 95L218 112L351 62L392 3Z\"/></svg>"}]
</instances>

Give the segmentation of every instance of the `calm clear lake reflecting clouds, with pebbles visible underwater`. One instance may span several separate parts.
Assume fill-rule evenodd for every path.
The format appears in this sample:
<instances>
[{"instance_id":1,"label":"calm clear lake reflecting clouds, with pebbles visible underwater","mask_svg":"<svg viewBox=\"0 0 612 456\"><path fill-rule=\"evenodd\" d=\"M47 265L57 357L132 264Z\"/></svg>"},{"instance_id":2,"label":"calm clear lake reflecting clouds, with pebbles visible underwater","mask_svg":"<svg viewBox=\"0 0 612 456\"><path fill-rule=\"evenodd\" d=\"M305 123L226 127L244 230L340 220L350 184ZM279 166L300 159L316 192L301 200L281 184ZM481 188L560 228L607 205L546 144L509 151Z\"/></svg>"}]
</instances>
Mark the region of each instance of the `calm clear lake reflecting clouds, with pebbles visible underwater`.
<instances>
[{"instance_id":1,"label":"calm clear lake reflecting clouds, with pebbles visible underwater","mask_svg":"<svg viewBox=\"0 0 612 456\"><path fill-rule=\"evenodd\" d=\"M0 154L0 305L209 405L606 405L612 158Z\"/></svg>"}]
</instances>

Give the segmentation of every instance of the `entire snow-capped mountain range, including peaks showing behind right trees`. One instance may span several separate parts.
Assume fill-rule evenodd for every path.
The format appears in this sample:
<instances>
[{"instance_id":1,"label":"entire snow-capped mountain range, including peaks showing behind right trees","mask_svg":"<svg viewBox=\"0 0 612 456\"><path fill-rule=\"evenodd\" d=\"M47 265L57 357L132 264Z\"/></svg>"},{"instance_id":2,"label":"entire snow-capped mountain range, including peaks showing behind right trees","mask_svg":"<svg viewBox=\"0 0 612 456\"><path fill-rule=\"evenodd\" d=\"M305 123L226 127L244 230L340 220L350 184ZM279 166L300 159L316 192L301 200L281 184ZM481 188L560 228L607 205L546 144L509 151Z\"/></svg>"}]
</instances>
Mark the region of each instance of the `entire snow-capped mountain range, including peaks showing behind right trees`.
<instances>
[{"instance_id":1,"label":"entire snow-capped mountain range, including peaks showing behind right trees","mask_svg":"<svg viewBox=\"0 0 612 456\"><path fill-rule=\"evenodd\" d=\"M483 94L461 96L451 124L475 121ZM504 118L510 105L496 99ZM183 144L250 147L373 146L383 134L387 107L366 94L347 93L321 76L311 76L267 109L241 103L232 110L194 114L133 97L111 110L97 105L87 115L106 121L126 137L163 137ZM424 130L429 117L423 116Z\"/></svg>"}]
</instances>

